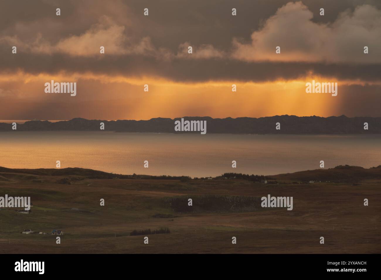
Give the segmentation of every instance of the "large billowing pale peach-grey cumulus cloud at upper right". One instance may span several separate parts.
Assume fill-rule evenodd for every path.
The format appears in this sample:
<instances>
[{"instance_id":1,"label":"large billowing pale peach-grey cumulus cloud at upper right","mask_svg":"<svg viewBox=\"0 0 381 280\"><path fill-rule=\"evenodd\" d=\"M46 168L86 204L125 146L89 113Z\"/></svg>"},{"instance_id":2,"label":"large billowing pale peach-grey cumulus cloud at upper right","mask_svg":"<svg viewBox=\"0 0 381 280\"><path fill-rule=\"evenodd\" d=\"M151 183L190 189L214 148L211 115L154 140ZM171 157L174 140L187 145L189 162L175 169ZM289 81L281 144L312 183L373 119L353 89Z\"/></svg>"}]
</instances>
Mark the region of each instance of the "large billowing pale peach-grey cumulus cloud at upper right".
<instances>
[{"instance_id":1,"label":"large billowing pale peach-grey cumulus cloud at upper right","mask_svg":"<svg viewBox=\"0 0 381 280\"><path fill-rule=\"evenodd\" d=\"M303 3L290 2L251 34L251 43L234 39L231 55L244 61L381 62L380 10L357 6L353 13L341 13L332 24L319 24L312 18ZM275 53L276 46L280 54ZM369 54L363 53L364 46L369 47Z\"/></svg>"}]
</instances>

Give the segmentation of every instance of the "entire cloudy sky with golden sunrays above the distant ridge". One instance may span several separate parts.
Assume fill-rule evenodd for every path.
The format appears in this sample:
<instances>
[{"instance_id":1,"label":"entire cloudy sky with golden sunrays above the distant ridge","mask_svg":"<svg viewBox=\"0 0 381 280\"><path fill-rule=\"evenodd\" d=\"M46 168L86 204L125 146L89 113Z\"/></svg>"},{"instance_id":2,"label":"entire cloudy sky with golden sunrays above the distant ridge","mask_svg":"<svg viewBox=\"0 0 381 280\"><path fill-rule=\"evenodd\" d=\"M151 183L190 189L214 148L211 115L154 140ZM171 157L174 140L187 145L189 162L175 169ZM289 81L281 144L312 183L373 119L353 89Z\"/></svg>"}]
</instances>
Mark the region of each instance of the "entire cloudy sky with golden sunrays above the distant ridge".
<instances>
[{"instance_id":1,"label":"entire cloudy sky with golden sunrays above the distant ridge","mask_svg":"<svg viewBox=\"0 0 381 280\"><path fill-rule=\"evenodd\" d=\"M0 3L2 120L381 117L380 94L379 0Z\"/></svg>"}]
</instances>

